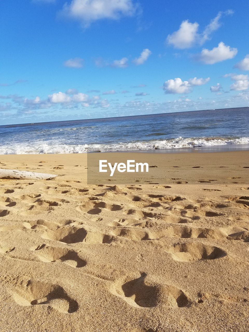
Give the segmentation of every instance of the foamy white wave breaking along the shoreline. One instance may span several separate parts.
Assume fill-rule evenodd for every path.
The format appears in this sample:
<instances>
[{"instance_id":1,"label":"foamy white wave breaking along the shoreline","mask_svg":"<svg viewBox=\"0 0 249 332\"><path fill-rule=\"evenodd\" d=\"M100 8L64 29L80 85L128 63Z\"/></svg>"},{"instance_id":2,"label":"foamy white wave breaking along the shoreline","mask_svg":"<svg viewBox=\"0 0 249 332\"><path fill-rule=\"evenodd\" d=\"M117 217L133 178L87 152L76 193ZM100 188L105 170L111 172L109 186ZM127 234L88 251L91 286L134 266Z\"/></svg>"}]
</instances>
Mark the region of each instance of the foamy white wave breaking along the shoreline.
<instances>
[{"instance_id":1,"label":"foamy white wave breaking along the shoreline","mask_svg":"<svg viewBox=\"0 0 249 332\"><path fill-rule=\"evenodd\" d=\"M167 140L131 141L112 144L47 144L34 142L33 145L10 144L0 146L0 154L43 154L43 153L86 153L114 151L145 151L249 144L249 137L190 137Z\"/></svg>"}]
</instances>

